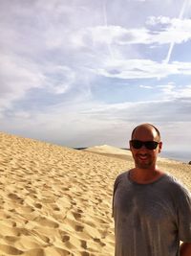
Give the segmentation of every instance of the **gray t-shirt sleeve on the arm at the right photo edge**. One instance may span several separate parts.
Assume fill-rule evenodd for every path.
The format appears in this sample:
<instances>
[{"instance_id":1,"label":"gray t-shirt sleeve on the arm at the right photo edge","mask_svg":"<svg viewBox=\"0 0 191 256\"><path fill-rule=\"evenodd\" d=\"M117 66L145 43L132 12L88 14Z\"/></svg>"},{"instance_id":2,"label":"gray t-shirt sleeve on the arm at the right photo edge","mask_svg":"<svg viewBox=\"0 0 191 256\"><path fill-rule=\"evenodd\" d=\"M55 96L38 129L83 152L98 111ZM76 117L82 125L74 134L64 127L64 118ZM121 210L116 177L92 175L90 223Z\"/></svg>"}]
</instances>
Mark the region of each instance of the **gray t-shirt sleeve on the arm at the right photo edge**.
<instances>
[{"instance_id":1,"label":"gray t-shirt sleeve on the arm at the right photo edge","mask_svg":"<svg viewBox=\"0 0 191 256\"><path fill-rule=\"evenodd\" d=\"M178 204L179 238L182 242L191 242L191 195L182 188Z\"/></svg>"}]
</instances>

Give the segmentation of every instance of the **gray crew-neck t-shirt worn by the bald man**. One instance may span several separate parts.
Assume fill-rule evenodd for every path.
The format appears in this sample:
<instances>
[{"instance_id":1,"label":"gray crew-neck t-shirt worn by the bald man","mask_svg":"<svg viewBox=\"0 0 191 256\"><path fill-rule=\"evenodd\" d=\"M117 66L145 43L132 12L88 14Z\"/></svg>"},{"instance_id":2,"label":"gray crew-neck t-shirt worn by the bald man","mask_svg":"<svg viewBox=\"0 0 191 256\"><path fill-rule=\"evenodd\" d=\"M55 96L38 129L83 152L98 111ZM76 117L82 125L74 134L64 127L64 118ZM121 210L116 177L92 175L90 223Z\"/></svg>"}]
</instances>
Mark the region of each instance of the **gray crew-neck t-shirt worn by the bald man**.
<instances>
[{"instance_id":1,"label":"gray crew-neck t-shirt worn by the bald man","mask_svg":"<svg viewBox=\"0 0 191 256\"><path fill-rule=\"evenodd\" d=\"M191 242L191 198L170 175L138 184L129 172L117 176L113 216L116 256L179 256Z\"/></svg>"}]
</instances>

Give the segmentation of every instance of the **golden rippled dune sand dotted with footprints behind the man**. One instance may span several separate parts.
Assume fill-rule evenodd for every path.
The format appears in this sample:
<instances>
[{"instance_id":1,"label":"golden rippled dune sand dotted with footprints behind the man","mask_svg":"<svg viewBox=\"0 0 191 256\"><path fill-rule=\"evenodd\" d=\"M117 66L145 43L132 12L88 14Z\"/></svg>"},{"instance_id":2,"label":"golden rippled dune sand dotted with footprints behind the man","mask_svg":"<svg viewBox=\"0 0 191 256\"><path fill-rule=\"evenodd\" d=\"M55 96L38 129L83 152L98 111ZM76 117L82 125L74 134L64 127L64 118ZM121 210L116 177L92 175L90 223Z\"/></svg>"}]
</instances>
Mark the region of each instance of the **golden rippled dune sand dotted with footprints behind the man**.
<instances>
[{"instance_id":1,"label":"golden rippled dune sand dotted with footprints behind the man","mask_svg":"<svg viewBox=\"0 0 191 256\"><path fill-rule=\"evenodd\" d=\"M114 180L134 164L129 151L89 150L0 133L1 256L114 255ZM191 189L190 165L159 167Z\"/></svg>"}]
</instances>

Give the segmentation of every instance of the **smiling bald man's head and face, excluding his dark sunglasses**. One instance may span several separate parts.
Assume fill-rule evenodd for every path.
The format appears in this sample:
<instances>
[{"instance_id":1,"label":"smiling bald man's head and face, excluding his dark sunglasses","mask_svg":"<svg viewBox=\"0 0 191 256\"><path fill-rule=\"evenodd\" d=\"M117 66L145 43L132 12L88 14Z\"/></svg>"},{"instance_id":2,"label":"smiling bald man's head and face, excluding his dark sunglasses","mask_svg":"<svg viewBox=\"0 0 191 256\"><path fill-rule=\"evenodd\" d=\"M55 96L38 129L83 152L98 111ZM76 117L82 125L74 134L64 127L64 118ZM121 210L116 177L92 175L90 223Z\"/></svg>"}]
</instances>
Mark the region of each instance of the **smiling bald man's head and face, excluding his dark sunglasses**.
<instances>
[{"instance_id":1,"label":"smiling bald man's head and face, excluding his dark sunglasses","mask_svg":"<svg viewBox=\"0 0 191 256\"><path fill-rule=\"evenodd\" d=\"M159 142L159 135L155 128L151 126L142 126L136 128L132 140L138 140L141 142L156 141ZM145 145L142 145L139 149L135 149L130 142L130 150L135 160L136 167L138 169L155 169L158 153L161 150L162 143L159 142L158 146L154 150L149 150Z\"/></svg>"}]
</instances>

